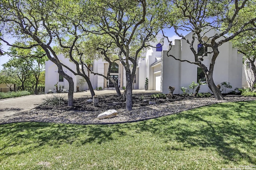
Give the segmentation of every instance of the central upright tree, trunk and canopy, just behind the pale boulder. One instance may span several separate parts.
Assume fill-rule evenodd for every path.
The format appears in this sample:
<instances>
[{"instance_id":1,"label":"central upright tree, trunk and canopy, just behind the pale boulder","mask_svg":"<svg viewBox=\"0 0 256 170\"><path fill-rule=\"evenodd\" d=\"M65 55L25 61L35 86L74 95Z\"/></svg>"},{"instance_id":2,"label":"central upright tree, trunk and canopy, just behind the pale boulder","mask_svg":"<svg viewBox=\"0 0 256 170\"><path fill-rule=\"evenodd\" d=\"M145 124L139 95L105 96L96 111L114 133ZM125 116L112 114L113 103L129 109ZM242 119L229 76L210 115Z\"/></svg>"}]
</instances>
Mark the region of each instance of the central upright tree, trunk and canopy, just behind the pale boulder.
<instances>
[{"instance_id":1,"label":"central upright tree, trunk and canopy, just behind the pale boulder","mask_svg":"<svg viewBox=\"0 0 256 170\"><path fill-rule=\"evenodd\" d=\"M85 15L90 16L97 29L92 27L89 31L108 34L118 47L118 58L126 71L126 110L130 111L137 60L160 30L156 12L161 4L151 0L88 0L87 3L92 10Z\"/></svg>"}]
</instances>

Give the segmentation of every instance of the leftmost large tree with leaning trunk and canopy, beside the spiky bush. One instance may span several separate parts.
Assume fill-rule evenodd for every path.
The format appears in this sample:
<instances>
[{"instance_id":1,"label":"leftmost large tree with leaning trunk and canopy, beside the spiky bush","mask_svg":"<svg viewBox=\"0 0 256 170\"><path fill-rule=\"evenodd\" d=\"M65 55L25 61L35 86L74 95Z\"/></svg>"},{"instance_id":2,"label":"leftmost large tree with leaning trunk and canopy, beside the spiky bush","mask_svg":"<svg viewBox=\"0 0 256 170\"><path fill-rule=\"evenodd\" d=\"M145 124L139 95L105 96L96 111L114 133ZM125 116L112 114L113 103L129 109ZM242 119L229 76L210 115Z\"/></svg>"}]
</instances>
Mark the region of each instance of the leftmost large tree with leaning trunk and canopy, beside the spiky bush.
<instances>
[{"instance_id":1,"label":"leftmost large tree with leaning trunk and canopy, beside the spiky bush","mask_svg":"<svg viewBox=\"0 0 256 170\"><path fill-rule=\"evenodd\" d=\"M3 34L22 40L25 46L12 45L8 39L0 39L12 47L20 49L32 49L40 46L50 61L58 67L58 73L69 83L68 106L73 105L74 82L63 70L62 63L52 48L56 44L56 35L61 35L65 30L60 23L69 16L75 16L79 7L72 6L76 10L68 13L70 1L59 0L3 0L0 6L0 27ZM67 12L64 15L62 12ZM62 20L60 20L62 19ZM68 38L68 37L67 37Z\"/></svg>"}]
</instances>

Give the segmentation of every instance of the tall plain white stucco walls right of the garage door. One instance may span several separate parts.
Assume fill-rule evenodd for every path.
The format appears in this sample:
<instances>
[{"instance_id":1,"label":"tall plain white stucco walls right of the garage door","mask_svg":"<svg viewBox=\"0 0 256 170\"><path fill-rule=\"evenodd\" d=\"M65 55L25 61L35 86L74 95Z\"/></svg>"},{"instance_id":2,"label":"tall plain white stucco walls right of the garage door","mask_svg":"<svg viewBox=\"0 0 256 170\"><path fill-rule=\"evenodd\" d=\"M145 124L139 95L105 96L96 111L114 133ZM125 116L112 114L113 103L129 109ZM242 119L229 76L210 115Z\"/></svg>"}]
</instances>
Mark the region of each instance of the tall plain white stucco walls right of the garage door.
<instances>
[{"instance_id":1,"label":"tall plain white stucco walls right of the garage door","mask_svg":"<svg viewBox=\"0 0 256 170\"><path fill-rule=\"evenodd\" d=\"M214 33L209 31L207 36ZM191 33L186 35L186 38L191 39ZM208 39L207 37L205 37ZM197 43L194 43L194 49L197 49ZM208 49L212 51L212 49ZM219 55L214 65L213 78L216 85L221 82L230 82L232 89L227 89L226 92L234 90L236 87L242 86L242 55L237 53L237 49L232 47L232 43L227 42L219 47ZM177 59L194 61L194 55L189 48L189 44L185 40L175 40L175 45L169 52ZM204 57L202 63L209 69L210 60L213 54L208 54ZM188 87L192 81L197 82L197 65L188 62L176 61L172 57L167 57L167 51L163 51L162 56L162 92L169 93L168 86L174 86L174 94L180 94L180 87ZM207 85L203 85L199 92L211 92Z\"/></svg>"}]
</instances>

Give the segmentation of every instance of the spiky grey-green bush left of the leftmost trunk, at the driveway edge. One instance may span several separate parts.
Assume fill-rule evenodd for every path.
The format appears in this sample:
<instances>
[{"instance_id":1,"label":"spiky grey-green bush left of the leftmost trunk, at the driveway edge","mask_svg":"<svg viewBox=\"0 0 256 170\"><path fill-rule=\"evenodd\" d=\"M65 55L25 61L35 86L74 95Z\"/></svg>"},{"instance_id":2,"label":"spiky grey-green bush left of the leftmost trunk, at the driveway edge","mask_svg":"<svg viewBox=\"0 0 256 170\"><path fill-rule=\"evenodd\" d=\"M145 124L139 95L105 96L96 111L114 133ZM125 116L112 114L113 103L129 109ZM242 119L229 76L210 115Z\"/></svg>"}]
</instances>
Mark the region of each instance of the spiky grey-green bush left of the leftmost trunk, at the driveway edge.
<instances>
[{"instance_id":1,"label":"spiky grey-green bush left of the leftmost trunk, at the driveway edge","mask_svg":"<svg viewBox=\"0 0 256 170\"><path fill-rule=\"evenodd\" d=\"M56 95L50 95L46 96L43 99L43 106L59 106L64 105L66 100L66 94L56 94Z\"/></svg>"}]
</instances>

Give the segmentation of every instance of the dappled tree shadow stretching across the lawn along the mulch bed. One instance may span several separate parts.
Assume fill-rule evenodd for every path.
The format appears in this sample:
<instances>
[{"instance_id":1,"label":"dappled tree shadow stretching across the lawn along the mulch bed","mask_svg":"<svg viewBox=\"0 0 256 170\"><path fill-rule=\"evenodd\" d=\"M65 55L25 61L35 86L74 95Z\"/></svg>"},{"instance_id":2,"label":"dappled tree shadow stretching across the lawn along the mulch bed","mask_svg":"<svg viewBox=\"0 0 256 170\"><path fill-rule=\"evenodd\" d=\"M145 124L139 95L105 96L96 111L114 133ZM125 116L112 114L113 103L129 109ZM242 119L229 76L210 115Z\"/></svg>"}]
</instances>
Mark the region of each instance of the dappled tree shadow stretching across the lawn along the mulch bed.
<instances>
[{"instance_id":1,"label":"dappled tree shadow stretching across the lawn along the mulch bed","mask_svg":"<svg viewBox=\"0 0 256 170\"><path fill-rule=\"evenodd\" d=\"M255 102L233 102L199 107L190 111L137 123L115 125L72 125L54 123L12 123L0 125L0 154L4 159L12 154L30 152L37 147L61 144L101 144L119 137L138 133L151 133L169 143L176 141L187 150L193 147L214 148L225 159L237 158L256 164L256 108ZM127 133L132 132L132 133ZM113 133L115 136L113 137ZM11 134L11 136L10 136ZM30 145L22 151L4 153L7 147ZM239 147L242 146L242 149ZM241 151L244 150L244 151ZM2 153L1 153L2 152Z\"/></svg>"}]
</instances>

